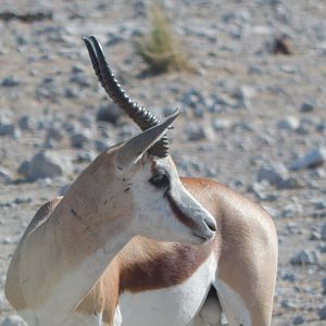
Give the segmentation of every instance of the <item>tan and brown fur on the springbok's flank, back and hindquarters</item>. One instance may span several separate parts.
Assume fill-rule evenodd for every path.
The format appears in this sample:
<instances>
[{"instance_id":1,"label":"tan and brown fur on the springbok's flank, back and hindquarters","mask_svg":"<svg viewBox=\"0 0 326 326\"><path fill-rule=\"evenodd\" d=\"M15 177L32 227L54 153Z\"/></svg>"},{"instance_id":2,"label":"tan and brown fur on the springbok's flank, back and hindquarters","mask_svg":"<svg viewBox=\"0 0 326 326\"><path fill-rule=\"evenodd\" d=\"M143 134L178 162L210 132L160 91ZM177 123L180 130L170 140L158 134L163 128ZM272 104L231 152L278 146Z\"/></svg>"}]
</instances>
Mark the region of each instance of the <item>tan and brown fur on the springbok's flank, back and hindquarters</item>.
<instances>
[{"instance_id":1,"label":"tan and brown fur on the springbok's flank, back and hindquarters","mask_svg":"<svg viewBox=\"0 0 326 326\"><path fill-rule=\"evenodd\" d=\"M106 296L110 293L112 298L104 308L104 316L111 316L105 323L112 325L121 292L180 284L214 250L218 259L218 277L242 298L253 325L269 325L277 266L277 238L271 217L256 204L217 183L196 178L181 180L215 216L218 235L202 246L134 238L100 279L100 284L109 285ZM103 286L96 286L78 311L91 313L96 304L91 298L105 297L102 289Z\"/></svg>"}]
</instances>

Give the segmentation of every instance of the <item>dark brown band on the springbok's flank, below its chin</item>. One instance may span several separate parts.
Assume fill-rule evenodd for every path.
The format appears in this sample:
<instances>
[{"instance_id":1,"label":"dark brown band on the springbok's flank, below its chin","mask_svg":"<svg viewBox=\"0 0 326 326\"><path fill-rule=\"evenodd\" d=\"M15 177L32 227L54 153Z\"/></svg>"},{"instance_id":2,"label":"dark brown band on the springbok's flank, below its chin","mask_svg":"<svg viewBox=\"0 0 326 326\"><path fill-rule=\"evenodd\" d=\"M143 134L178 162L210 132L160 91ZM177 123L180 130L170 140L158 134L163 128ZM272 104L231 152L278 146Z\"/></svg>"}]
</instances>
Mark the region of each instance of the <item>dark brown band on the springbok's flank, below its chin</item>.
<instances>
[{"instance_id":1,"label":"dark brown band on the springbok's flank, below its chin","mask_svg":"<svg viewBox=\"0 0 326 326\"><path fill-rule=\"evenodd\" d=\"M213 242L202 246L172 243L165 248L148 239L141 239L137 248L134 243L120 255L120 293L156 290L181 284L192 276L213 248Z\"/></svg>"}]
</instances>

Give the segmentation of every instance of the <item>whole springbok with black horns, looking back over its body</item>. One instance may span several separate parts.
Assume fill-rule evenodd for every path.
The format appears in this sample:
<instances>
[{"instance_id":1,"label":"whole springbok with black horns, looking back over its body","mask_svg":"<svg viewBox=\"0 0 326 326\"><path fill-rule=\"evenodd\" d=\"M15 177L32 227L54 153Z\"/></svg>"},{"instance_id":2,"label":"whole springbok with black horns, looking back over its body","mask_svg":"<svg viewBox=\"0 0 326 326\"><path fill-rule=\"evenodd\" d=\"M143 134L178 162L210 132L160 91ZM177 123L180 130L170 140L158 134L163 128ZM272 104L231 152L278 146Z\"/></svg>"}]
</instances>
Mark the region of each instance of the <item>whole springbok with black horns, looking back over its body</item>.
<instances>
[{"instance_id":1,"label":"whole springbok with black horns, looking back over its body","mask_svg":"<svg viewBox=\"0 0 326 326\"><path fill-rule=\"evenodd\" d=\"M5 294L33 326L271 325L277 236L259 205L215 181L179 178L165 131L130 100L95 37L109 96L142 133L103 151L42 205L9 266Z\"/></svg>"}]
</instances>

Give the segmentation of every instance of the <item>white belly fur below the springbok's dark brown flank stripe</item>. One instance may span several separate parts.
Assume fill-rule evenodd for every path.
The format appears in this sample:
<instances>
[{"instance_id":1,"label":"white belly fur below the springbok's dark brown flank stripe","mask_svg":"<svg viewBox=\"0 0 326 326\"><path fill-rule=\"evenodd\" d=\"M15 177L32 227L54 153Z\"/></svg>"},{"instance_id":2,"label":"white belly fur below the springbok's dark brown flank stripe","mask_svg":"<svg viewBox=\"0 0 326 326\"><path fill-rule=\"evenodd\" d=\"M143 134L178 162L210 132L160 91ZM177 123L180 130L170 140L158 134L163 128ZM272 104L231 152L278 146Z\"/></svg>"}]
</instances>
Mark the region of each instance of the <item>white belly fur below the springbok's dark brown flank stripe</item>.
<instances>
[{"instance_id":1,"label":"white belly fur below the springbok's dark brown flank stripe","mask_svg":"<svg viewBox=\"0 0 326 326\"><path fill-rule=\"evenodd\" d=\"M215 280L212 254L185 283L175 287L137 293L125 292L118 305L122 326L186 326L200 311Z\"/></svg>"}]
</instances>

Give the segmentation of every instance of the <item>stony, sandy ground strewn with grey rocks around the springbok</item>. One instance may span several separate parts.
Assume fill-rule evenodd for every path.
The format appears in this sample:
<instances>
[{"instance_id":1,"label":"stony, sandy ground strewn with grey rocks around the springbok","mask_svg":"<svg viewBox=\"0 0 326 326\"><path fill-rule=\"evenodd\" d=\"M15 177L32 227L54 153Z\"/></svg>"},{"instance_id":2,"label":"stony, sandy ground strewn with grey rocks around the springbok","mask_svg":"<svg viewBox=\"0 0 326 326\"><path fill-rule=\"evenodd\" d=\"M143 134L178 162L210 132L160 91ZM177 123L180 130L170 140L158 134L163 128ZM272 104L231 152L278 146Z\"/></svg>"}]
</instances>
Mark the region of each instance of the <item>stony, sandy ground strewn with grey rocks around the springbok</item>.
<instances>
[{"instance_id":1,"label":"stony, sandy ground strewn with grey rocks around the springbok","mask_svg":"<svg viewBox=\"0 0 326 326\"><path fill-rule=\"evenodd\" d=\"M21 325L2 289L37 208L136 131L98 85L87 34L140 103L183 108L171 133L180 175L218 179L274 217L273 325L326 325L325 1L164 3L196 73L143 74L133 39L148 29L146 1L0 1L1 325ZM290 55L273 54L275 37Z\"/></svg>"}]
</instances>

